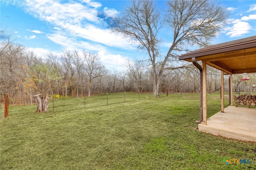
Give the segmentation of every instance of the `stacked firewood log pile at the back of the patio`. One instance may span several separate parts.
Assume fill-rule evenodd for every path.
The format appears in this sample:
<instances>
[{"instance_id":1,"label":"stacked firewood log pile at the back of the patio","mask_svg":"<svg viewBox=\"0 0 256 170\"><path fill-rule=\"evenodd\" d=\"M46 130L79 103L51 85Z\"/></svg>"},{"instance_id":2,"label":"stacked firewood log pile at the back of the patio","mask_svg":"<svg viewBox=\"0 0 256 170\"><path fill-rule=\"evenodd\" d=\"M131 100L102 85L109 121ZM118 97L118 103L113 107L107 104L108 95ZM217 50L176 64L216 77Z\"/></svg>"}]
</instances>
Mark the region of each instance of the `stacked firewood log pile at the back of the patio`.
<instances>
[{"instance_id":1,"label":"stacked firewood log pile at the back of the patio","mask_svg":"<svg viewBox=\"0 0 256 170\"><path fill-rule=\"evenodd\" d=\"M256 105L256 95L245 94L245 95L239 95L239 96L234 95L233 97L236 103L236 107L238 105L247 105L250 108L250 106Z\"/></svg>"}]
</instances>

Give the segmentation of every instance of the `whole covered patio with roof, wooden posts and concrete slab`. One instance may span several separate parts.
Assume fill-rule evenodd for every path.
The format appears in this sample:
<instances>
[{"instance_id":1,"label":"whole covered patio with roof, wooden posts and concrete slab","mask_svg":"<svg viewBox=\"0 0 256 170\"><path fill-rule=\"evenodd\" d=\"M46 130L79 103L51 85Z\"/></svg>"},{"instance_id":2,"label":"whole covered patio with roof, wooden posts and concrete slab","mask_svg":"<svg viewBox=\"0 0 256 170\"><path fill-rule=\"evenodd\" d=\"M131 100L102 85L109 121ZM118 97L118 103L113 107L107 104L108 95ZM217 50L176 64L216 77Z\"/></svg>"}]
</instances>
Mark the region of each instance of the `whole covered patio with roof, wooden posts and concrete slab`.
<instances>
[{"instance_id":1,"label":"whole covered patio with roof, wooden posts and concrete slab","mask_svg":"<svg viewBox=\"0 0 256 170\"><path fill-rule=\"evenodd\" d=\"M210 45L185 53L180 60L200 70L200 121L198 129L217 136L256 142L256 108L234 107L232 75L256 73L256 36ZM202 66L197 61L202 61ZM207 119L206 65L221 71L221 111ZM224 110L224 75L230 75L230 106ZM241 77L242 78L242 77Z\"/></svg>"}]
</instances>

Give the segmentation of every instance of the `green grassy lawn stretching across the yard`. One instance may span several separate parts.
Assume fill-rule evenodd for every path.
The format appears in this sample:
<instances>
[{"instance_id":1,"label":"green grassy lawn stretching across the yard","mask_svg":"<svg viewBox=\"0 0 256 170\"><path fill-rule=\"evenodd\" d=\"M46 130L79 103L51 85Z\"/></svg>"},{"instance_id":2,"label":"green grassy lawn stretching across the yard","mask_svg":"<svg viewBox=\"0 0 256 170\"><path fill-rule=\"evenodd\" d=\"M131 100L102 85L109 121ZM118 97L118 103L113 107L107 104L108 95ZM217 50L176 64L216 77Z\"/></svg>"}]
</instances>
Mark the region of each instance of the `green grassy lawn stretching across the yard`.
<instances>
[{"instance_id":1,"label":"green grassy lawn stretching across the yard","mask_svg":"<svg viewBox=\"0 0 256 170\"><path fill-rule=\"evenodd\" d=\"M138 97L86 97L85 109L83 97L54 99L54 113L52 100L48 113L10 106L0 121L0 169L256 169L256 143L198 132L198 94ZM220 96L207 97L210 117L221 110ZM250 164L225 165L224 158Z\"/></svg>"}]
</instances>

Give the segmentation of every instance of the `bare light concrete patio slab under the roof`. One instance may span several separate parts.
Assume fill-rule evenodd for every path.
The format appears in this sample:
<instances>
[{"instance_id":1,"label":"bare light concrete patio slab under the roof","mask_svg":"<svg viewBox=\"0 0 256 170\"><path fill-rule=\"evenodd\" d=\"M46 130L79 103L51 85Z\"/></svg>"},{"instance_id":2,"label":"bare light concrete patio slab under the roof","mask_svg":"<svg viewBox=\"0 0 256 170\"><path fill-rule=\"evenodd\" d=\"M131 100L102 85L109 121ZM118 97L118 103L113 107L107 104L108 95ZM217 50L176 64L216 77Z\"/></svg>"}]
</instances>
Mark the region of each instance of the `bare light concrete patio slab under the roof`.
<instances>
[{"instance_id":1,"label":"bare light concrete patio slab under the roof","mask_svg":"<svg viewBox=\"0 0 256 170\"><path fill-rule=\"evenodd\" d=\"M207 125L199 124L201 132L237 140L256 142L256 109L228 106L207 119Z\"/></svg>"}]
</instances>

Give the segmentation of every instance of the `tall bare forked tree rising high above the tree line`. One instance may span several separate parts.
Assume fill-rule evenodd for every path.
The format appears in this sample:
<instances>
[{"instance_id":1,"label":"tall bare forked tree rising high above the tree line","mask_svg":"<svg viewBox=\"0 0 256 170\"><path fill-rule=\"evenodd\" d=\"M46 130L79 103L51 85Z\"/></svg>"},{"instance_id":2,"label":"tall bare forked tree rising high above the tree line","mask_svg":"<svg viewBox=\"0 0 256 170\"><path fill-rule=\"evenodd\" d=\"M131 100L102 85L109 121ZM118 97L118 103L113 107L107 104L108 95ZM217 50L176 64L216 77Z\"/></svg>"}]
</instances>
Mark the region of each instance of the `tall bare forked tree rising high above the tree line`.
<instances>
[{"instance_id":1,"label":"tall bare forked tree rising high above the tree line","mask_svg":"<svg viewBox=\"0 0 256 170\"><path fill-rule=\"evenodd\" d=\"M129 38L131 42L138 42L138 49L148 53L155 97L163 71L167 67L170 69L168 63L176 61L180 51L189 51L190 46L209 45L228 17L224 8L208 0L172 0L167 5L166 16L161 18L153 1L132 0L131 5L122 12L123 16L115 18L111 24L113 32ZM164 23L172 28L173 39L166 55L161 56L158 33Z\"/></svg>"}]
</instances>

